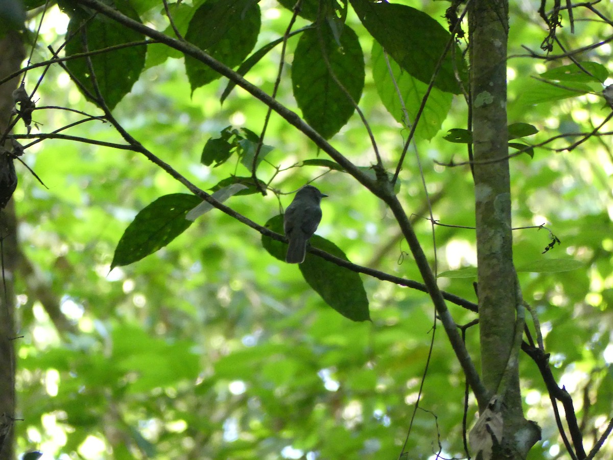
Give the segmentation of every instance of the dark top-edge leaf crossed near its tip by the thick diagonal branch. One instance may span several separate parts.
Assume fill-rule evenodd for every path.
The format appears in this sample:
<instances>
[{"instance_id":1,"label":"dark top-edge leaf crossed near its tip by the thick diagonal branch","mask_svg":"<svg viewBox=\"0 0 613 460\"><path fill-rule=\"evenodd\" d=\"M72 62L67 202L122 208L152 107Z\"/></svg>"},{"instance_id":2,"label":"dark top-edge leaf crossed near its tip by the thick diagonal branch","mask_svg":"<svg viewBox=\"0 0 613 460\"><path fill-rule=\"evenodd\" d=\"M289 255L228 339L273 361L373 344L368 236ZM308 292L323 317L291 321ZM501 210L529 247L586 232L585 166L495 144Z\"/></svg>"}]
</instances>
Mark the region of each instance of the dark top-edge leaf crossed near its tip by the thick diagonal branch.
<instances>
[{"instance_id":1,"label":"dark top-edge leaf crossed near its tip by the thick diagonal branch","mask_svg":"<svg viewBox=\"0 0 613 460\"><path fill-rule=\"evenodd\" d=\"M260 25L260 8L253 0L209 0L189 21L185 39L226 66L235 67L256 45ZM185 70L192 91L220 76L191 56L185 56Z\"/></svg>"}]
</instances>

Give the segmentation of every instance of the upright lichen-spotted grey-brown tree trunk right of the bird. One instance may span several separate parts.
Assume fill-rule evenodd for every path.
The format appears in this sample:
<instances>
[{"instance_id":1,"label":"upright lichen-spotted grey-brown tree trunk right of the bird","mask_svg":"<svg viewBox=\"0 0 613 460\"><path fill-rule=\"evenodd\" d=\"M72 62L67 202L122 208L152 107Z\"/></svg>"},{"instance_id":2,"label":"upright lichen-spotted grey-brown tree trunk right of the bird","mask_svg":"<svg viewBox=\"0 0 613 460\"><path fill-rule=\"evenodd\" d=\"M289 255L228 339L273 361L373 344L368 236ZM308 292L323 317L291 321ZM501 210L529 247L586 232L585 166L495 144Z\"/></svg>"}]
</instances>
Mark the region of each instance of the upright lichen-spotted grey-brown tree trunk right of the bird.
<instances>
[{"instance_id":1,"label":"upright lichen-spotted grey-brown tree trunk right of the bird","mask_svg":"<svg viewBox=\"0 0 613 460\"><path fill-rule=\"evenodd\" d=\"M521 302L512 258L506 120L508 2L473 0L469 10L481 364L490 397L498 394L503 442L493 458L525 458L539 439L524 419L513 348ZM492 161L493 160L493 161ZM521 436L518 436L520 435ZM508 456L508 457L507 457Z\"/></svg>"}]
</instances>

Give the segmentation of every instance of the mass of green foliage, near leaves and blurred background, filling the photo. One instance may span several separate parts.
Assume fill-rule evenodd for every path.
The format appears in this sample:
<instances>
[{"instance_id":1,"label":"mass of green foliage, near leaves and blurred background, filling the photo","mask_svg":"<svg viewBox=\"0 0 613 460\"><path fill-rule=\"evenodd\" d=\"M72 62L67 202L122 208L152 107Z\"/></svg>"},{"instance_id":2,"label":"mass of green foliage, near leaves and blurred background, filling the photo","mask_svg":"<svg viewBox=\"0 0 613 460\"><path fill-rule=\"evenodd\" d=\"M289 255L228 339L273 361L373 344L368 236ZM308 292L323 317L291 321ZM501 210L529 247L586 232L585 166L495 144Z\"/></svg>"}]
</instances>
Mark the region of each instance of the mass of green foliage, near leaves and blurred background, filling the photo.
<instances>
[{"instance_id":1,"label":"mass of green foliage, near leaves and blurred background, filling the photo","mask_svg":"<svg viewBox=\"0 0 613 460\"><path fill-rule=\"evenodd\" d=\"M41 3L26 2L32 63L53 58L47 46L58 52L66 37L59 56L145 39L102 13L91 18L86 2ZM574 8L574 33L563 11L548 59L538 5L512 3L509 152L522 152L511 161L514 260L589 449L613 397L613 150L600 126L611 113L601 93L613 72L613 10ZM440 61L448 2L305 1L295 18L289 0L114 4L170 37L176 28L268 94L283 58L276 99L372 177L376 155L354 104L390 175L421 113L395 188L441 288L476 302L466 40L452 40ZM256 153L267 106L168 44L36 67L26 90L39 79L31 132L15 127L22 159L46 186L16 163L19 452L383 459L408 439L408 458L466 456L465 378L427 294L315 255L285 264L283 243L231 213L185 220L200 198L139 151L113 148L126 138L91 101L103 98L129 136L203 190L246 185L225 204L259 226L280 232L281 210L314 181L329 195L315 247L421 282L389 210L345 168L275 112ZM83 119L59 132L83 142L53 134ZM476 318L449 308L458 324ZM476 362L477 327L465 331ZM532 458L556 458L565 447L547 388L520 358L527 418L543 429ZM470 429L472 398L467 419Z\"/></svg>"}]
</instances>

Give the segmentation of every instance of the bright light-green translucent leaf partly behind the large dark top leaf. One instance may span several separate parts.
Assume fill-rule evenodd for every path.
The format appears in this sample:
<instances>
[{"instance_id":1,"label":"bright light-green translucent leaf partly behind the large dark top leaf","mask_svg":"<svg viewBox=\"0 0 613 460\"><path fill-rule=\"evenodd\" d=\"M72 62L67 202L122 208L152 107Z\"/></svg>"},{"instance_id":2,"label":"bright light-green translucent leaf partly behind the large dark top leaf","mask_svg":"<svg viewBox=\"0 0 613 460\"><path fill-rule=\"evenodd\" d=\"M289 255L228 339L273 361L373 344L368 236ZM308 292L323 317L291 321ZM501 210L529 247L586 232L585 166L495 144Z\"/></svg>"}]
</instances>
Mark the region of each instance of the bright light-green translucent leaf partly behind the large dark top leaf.
<instances>
[{"instance_id":1,"label":"bright light-green translucent leaf partly behind the large dark top leaf","mask_svg":"<svg viewBox=\"0 0 613 460\"><path fill-rule=\"evenodd\" d=\"M428 85L401 69L392 56L387 56L388 67L383 48L378 42L373 42L372 60L373 78L383 105L396 121L405 126L411 126L417 116ZM394 79L390 75L390 70ZM398 96L398 91L400 91L402 101ZM415 130L415 136L430 140L436 135L441 129L449 109L451 109L452 98L451 93L432 88ZM406 109L408 120L403 109Z\"/></svg>"}]
</instances>

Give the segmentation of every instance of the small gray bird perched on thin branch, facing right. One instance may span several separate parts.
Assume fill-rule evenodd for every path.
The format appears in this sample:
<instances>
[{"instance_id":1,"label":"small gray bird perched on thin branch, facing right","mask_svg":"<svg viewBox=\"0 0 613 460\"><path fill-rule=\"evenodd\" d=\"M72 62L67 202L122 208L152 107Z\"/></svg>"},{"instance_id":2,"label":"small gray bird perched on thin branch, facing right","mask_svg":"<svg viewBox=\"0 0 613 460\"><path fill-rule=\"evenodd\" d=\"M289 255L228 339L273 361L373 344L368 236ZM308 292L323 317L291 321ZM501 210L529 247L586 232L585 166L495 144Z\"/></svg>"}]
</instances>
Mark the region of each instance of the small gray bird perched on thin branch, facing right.
<instances>
[{"instance_id":1,"label":"small gray bird perched on thin branch, facing right","mask_svg":"<svg viewBox=\"0 0 613 460\"><path fill-rule=\"evenodd\" d=\"M321 221L319 203L326 196L313 185L305 185L296 192L294 201L285 210L283 229L289 240L285 256L288 264L302 264L305 261L307 241Z\"/></svg>"}]
</instances>

